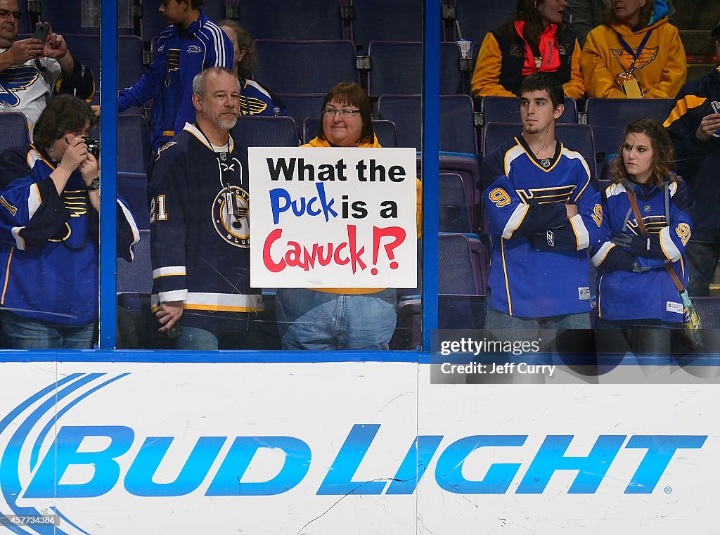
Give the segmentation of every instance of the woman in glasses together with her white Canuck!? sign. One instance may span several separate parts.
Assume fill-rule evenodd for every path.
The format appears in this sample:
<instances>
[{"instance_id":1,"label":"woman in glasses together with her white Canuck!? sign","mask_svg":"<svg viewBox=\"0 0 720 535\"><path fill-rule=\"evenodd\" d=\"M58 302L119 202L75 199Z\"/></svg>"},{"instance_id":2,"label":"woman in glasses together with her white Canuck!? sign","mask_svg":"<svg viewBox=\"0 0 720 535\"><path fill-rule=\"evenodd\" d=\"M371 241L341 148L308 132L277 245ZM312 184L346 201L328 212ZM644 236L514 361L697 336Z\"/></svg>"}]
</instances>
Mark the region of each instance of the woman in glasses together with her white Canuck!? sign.
<instances>
[{"instance_id":1,"label":"woman in glasses together with her white Canuck!? sign","mask_svg":"<svg viewBox=\"0 0 720 535\"><path fill-rule=\"evenodd\" d=\"M252 284L278 288L283 349L388 349L394 287L415 281L415 151L377 150L370 110L360 86L341 83L305 145L316 150L250 150L253 191L264 189Z\"/></svg>"}]
</instances>

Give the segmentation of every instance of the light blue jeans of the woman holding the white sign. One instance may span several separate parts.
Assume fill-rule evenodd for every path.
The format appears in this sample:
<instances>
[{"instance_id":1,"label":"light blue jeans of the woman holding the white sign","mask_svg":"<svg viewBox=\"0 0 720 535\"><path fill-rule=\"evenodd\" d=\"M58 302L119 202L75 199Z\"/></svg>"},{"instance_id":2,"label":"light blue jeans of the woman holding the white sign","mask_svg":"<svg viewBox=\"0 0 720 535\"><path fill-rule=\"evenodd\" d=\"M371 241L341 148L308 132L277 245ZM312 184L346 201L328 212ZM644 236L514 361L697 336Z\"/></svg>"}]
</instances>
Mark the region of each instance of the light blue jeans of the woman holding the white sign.
<instances>
[{"instance_id":1,"label":"light blue jeans of the woman holding the white sign","mask_svg":"<svg viewBox=\"0 0 720 535\"><path fill-rule=\"evenodd\" d=\"M395 289L333 294L278 289L275 318L282 349L387 349L395 332Z\"/></svg>"}]
</instances>

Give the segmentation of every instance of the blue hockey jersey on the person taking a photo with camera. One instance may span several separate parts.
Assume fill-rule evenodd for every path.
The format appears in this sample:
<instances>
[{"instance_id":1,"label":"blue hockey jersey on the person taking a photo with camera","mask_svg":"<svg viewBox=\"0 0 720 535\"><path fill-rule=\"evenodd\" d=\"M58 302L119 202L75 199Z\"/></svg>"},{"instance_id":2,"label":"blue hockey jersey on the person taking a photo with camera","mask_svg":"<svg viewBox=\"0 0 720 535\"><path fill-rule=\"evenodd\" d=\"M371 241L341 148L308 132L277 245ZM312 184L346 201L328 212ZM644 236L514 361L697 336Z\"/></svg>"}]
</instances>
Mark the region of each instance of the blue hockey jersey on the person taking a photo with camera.
<instances>
[{"instance_id":1,"label":"blue hockey jersey on the person taking a photo with camera","mask_svg":"<svg viewBox=\"0 0 720 535\"><path fill-rule=\"evenodd\" d=\"M84 325L98 316L99 214L80 171L58 195L49 178L55 166L32 145L0 156L0 305L24 318ZM118 200L118 256L131 261L139 239Z\"/></svg>"}]
</instances>

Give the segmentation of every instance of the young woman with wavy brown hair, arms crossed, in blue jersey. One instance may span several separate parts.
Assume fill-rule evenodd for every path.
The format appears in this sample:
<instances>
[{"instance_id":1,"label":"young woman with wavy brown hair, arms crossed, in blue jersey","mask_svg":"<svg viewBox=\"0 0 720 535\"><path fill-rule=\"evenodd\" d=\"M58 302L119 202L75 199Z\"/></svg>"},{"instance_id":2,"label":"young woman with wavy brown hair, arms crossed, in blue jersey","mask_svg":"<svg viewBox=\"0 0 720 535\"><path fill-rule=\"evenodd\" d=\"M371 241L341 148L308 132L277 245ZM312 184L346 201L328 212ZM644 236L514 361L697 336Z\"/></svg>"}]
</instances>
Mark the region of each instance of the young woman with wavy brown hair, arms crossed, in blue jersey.
<instances>
[{"instance_id":1,"label":"young woman with wavy brown hair, arms crossed, in blue jersey","mask_svg":"<svg viewBox=\"0 0 720 535\"><path fill-rule=\"evenodd\" d=\"M641 119L626 126L613 183L603 197L603 235L593 248L598 328L623 329L636 351L670 351L670 331L655 331L680 328L683 321L683 303L667 267L683 287L688 284L685 247L693 229L688 215L693 201L685 182L668 168L672 158L670 138L659 122ZM652 336L639 336L642 328L654 328ZM643 348L644 343L652 346Z\"/></svg>"}]
</instances>

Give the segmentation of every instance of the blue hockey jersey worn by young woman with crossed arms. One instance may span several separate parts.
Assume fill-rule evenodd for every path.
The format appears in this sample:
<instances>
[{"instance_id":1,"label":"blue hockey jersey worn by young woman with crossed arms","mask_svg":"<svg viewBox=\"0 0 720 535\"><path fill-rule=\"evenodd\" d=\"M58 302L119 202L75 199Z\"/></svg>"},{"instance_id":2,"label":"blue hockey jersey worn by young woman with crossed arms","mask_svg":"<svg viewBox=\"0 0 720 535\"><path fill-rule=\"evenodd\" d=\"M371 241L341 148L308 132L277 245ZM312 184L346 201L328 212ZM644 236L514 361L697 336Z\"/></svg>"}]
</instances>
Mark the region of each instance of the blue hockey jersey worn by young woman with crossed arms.
<instances>
[{"instance_id":1,"label":"blue hockey jersey worn by young woman with crossed arms","mask_svg":"<svg viewBox=\"0 0 720 535\"><path fill-rule=\"evenodd\" d=\"M635 192L649 237L642 235L637 226L626 188ZM670 262L687 286L684 251L693 230L688 214L692 206L682 180L665 181L661 188L647 188L630 181L608 186L602 236L592 250L593 264L599 270L598 318L683 321L683 302L664 264ZM616 246L611 241L615 235L629 236L631 246ZM647 271L633 271L638 260Z\"/></svg>"}]
</instances>

